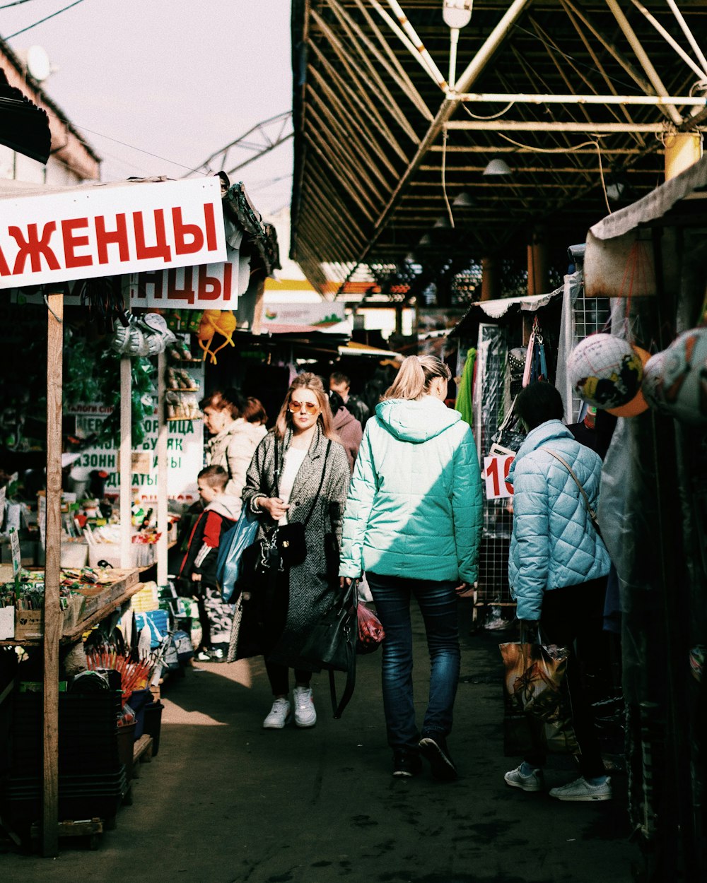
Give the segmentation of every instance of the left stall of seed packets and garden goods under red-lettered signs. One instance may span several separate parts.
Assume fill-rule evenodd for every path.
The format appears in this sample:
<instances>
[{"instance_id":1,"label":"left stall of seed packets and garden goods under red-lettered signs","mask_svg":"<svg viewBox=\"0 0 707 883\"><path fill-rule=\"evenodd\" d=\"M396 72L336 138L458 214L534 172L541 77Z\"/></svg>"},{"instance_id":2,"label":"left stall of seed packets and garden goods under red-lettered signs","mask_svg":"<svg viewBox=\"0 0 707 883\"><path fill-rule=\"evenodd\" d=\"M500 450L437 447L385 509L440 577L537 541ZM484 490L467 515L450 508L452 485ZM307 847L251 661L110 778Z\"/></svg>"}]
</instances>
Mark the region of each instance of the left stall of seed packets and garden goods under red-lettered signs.
<instances>
[{"instance_id":1,"label":"left stall of seed packets and garden goods under red-lettered signs","mask_svg":"<svg viewBox=\"0 0 707 883\"><path fill-rule=\"evenodd\" d=\"M168 497L196 497L197 403L214 352L214 335L191 336L182 317L198 310L204 327L223 328L214 313L243 306L252 321L275 264L274 233L242 185L221 177L0 186L5 364L15 368L0 396L0 718L22 730L3 744L2 818L44 855L57 854L60 835L100 833L97 817L110 821L128 796L134 736L120 749L117 718L128 723L126 699L159 679L173 631L169 611L156 609L169 606L157 591L167 585ZM156 582L143 582L146 568ZM84 647L98 623L128 645ZM129 645L138 634L147 645ZM87 770L87 783L75 760L97 721L107 766ZM80 818L96 817L90 830L69 830L82 806Z\"/></svg>"}]
</instances>

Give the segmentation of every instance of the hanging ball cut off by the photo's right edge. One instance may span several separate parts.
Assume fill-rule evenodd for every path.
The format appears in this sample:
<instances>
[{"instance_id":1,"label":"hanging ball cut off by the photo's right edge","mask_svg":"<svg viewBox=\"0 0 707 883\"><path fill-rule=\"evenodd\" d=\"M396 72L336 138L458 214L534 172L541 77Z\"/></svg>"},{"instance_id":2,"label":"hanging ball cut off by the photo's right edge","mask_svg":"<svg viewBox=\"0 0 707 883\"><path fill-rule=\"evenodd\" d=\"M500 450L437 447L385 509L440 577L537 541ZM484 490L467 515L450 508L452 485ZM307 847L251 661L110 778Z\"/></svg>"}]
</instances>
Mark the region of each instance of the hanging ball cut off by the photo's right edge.
<instances>
[{"instance_id":1,"label":"hanging ball cut off by the photo's right edge","mask_svg":"<svg viewBox=\"0 0 707 883\"><path fill-rule=\"evenodd\" d=\"M651 408L694 426L707 425L707 327L683 331L645 367Z\"/></svg>"}]
</instances>

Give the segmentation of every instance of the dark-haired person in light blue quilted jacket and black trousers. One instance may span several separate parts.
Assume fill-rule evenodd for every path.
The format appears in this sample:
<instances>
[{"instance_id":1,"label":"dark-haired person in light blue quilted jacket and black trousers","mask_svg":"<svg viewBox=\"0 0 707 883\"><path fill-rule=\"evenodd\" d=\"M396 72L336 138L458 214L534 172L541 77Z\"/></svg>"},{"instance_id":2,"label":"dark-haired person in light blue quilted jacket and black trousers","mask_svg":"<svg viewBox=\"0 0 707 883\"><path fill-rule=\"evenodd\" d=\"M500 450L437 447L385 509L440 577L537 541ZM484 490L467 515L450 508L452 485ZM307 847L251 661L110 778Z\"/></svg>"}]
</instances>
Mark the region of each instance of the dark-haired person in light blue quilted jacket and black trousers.
<instances>
[{"instance_id":1,"label":"dark-haired person in light blue quilted jacket and black trousers","mask_svg":"<svg viewBox=\"0 0 707 883\"><path fill-rule=\"evenodd\" d=\"M507 479L513 484L508 578L518 604L521 633L535 635L540 626L544 643L572 651L575 640L580 644L597 641L602 630L611 562L589 515L589 506L597 510L602 461L562 423L562 398L550 383L531 383L522 389L515 400L515 412L528 429ZM587 502L577 482L587 494ZM581 749L582 778L551 789L550 796L569 801L610 800L611 782L604 772L574 651L567 663L566 681ZM539 733L535 736L535 750L521 766L506 773L506 784L512 788L544 788L544 746Z\"/></svg>"}]
</instances>

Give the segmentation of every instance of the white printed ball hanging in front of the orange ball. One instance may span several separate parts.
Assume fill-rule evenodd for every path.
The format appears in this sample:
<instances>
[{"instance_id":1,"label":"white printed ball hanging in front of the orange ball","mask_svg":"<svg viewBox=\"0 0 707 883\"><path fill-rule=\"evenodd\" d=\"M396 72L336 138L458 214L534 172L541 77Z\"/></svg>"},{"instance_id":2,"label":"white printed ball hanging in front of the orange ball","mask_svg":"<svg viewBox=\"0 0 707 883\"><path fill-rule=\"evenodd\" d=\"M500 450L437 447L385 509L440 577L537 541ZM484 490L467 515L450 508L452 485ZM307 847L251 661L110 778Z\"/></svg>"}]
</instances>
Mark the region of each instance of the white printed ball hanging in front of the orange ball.
<instances>
[{"instance_id":1,"label":"white printed ball hanging in front of the orange ball","mask_svg":"<svg viewBox=\"0 0 707 883\"><path fill-rule=\"evenodd\" d=\"M596 408L620 408L641 387L641 357L622 337L593 334L578 343L567 359L574 394Z\"/></svg>"}]
</instances>

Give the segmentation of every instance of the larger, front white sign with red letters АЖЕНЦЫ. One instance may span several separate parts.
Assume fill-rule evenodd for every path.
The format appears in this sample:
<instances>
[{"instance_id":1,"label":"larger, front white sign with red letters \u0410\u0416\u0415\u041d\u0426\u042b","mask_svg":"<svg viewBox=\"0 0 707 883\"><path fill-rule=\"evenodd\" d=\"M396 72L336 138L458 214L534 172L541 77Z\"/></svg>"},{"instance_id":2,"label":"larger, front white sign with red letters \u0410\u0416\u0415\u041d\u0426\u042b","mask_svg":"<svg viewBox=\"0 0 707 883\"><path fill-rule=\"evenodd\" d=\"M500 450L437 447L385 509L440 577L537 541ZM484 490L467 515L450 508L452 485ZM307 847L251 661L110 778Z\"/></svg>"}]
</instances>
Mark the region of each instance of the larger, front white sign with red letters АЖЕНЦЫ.
<instances>
[{"instance_id":1,"label":"larger, front white sign with red letters \u0410\u0416\u0415\u041d\u0426\u042b","mask_svg":"<svg viewBox=\"0 0 707 883\"><path fill-rule=\"evenodd\" d=\"M0 288L224 260L218 177L0 200Z\"/></svg>"}]
</instances>

